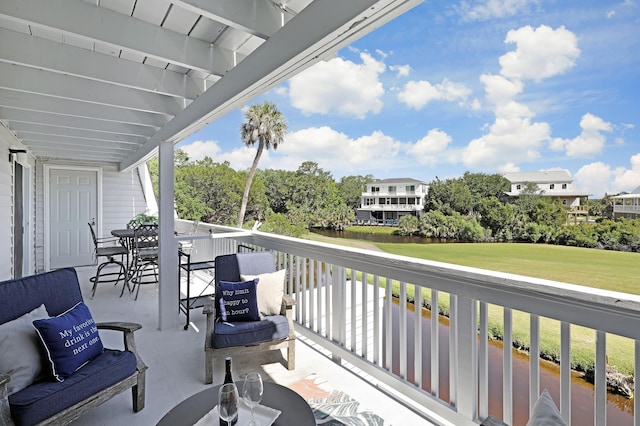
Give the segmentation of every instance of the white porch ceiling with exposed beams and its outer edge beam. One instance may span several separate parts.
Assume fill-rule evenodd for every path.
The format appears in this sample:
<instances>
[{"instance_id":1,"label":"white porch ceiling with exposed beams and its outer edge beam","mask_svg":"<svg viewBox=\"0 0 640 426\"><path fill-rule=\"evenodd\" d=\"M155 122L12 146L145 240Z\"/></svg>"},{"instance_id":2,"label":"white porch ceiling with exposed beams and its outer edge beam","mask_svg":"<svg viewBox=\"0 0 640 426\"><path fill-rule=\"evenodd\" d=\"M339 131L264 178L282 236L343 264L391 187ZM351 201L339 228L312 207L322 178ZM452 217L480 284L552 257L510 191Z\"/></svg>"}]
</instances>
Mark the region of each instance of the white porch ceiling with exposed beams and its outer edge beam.
<instances>
[{"instance_id":1,"label":"white porch ceiling with exposed beams and its outer edge beam","mask_svg":"<svg viewBox=\"0 0 640 426\"><path fill-rule=\"evenodd\" d=\"M2 0L0 121L121 170L422 0Z\"/></svg>"}]
</instances>

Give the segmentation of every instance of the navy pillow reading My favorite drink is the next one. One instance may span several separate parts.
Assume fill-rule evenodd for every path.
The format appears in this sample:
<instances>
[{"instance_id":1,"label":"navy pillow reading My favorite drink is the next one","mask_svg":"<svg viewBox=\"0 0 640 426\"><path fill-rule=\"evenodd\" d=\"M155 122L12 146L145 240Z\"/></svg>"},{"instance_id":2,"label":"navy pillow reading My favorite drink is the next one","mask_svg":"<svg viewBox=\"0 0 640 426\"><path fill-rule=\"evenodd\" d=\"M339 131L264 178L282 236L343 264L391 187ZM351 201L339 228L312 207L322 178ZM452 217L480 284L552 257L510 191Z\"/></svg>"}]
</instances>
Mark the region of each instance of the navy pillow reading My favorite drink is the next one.
<instances>
[{"instance_id":1,"label":"navy pillow reading My favorite drink is the next one","mask_svg":"<svg viewBox=\"0 0 640 426\"><path fill-rule=\"evenodd\" d=\"M59 382L104 350L91 312L82 302L57 317L35 320L33 326Z\"/></svg>"}]
</instances>

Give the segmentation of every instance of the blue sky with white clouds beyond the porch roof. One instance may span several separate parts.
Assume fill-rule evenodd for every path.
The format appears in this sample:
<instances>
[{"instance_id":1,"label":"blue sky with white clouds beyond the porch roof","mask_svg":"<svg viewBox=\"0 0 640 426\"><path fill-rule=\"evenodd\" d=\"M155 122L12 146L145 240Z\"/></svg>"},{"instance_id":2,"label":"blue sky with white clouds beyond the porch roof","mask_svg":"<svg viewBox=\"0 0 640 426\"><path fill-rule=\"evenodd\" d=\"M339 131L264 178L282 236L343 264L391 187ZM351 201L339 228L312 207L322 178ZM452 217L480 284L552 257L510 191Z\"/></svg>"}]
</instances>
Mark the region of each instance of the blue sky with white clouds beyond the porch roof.
<instances>
[{"instance_id":1,"label":"blue sky with white clouds beyond the porch roof","mask_svg":"<svg viewBox=\"0 0 640 426\"><path fill-rule=\"evenodd\" d=\"M315 161L430 182L567 170L600 198L640 186L640 1L426 1L251 103L288 133L261 169ZM248 169L234 111L178 144Z\"/></svg>"}]
</instances>

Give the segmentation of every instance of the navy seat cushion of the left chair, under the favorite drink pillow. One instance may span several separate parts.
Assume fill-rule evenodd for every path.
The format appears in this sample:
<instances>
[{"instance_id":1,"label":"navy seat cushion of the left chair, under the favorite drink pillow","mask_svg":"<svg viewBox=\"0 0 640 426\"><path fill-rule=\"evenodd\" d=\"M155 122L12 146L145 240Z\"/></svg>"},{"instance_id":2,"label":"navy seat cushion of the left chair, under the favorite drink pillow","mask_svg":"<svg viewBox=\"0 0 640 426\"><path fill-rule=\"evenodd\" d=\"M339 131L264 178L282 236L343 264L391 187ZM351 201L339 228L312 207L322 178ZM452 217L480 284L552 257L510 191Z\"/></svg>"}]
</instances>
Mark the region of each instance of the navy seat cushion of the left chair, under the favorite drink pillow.
<instances>
[{"instance_id":1,"label":"navy seat cushion of the left chair, under the favorite drink pillow","mask_svg":"<svg viewBox=\"0 0 640 426\"><path fill-rule=\"evenodd\" d=\"M9 396L16 426L36 424L136 372L132 352L105 349L64 382L41 381Z\"/></svg>"}]
</instances>

